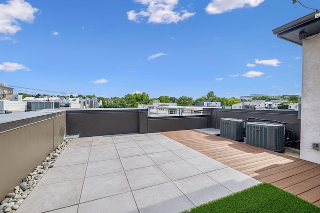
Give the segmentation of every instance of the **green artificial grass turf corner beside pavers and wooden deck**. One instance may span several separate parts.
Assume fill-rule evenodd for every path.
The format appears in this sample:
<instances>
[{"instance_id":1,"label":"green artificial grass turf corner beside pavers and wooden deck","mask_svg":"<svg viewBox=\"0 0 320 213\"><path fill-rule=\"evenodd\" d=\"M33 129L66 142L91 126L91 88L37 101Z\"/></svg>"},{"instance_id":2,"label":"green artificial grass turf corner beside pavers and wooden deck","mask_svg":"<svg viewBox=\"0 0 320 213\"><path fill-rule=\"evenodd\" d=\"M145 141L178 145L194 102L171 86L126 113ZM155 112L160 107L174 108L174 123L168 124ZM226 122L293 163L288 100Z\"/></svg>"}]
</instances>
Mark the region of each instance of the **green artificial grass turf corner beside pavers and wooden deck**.
<instances>
[{"instance_id":1,"label":"green artificial grass turf corner beside pavers and wooden deck","mask_svg":"<svg viewBox=\"0 0 320 213\"><path fill-rule=\"evenodd\" d=\"M320 207L261 183L182 213L320 213Z\"/></svg>"}]
</instances>

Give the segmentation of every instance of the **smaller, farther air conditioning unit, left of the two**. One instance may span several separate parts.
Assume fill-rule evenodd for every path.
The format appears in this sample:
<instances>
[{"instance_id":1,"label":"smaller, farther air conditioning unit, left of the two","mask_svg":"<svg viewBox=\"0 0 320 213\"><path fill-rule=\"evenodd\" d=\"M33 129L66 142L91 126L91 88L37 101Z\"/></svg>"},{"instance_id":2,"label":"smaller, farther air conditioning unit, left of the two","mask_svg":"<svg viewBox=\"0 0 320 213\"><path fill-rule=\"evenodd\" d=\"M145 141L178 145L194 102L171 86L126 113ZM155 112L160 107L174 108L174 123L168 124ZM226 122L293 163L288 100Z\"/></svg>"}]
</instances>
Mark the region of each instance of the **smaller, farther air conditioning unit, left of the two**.
<instances>
[{"instance_id":1,"label":"smaller, farther air conditioning unit, left of the two","mask_svg":"<svg viewBox=\"0 0 320 213\"><path fill-rule=\"evenodd\" d=\"M243 141L244 120L236 118L220 119L220 137Z\"/></svg>"}]
</instances>

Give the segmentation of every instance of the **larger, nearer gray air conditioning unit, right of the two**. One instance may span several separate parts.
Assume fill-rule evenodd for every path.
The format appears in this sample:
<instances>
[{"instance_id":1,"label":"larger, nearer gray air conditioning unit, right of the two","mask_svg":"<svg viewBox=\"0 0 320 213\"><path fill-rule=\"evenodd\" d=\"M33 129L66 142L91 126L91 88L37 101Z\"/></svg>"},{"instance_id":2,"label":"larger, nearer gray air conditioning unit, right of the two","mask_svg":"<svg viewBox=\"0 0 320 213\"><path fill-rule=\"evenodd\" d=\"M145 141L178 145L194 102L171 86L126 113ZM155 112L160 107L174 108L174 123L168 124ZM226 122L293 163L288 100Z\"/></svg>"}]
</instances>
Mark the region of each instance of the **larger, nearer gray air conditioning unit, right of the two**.
<instances>
[{"instance_id":1,"label":"larger, nearer gray air conditioning unit, right of the two","mask_svg":"<svg viewBox=\"0 0 320 213\"><path fill-rule=\"evenodd\" d=\"M275 152L284 152L284 125L265 122L245 124L245 143Z\"/></svg>"}]
</instances>

